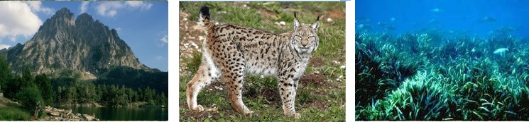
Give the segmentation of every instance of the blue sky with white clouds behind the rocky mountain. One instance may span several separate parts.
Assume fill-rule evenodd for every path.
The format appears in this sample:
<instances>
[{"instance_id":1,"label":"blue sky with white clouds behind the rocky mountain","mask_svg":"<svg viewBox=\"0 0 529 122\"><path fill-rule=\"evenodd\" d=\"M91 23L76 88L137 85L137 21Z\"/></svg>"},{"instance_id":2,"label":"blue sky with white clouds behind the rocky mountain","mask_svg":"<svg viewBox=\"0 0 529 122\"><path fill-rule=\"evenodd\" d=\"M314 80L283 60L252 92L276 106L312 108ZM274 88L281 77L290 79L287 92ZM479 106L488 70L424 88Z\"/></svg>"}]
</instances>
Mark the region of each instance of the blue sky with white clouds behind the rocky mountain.
<instances>
[{"instance_id":1,"label":"blue sky with white clouds behind the rocky mountain","mask_svg":"<svg viewBox=\"0 0 529 122\"><path fill-rule=\"evenodd\" d=\"M0 49L24 44L60 8L116 29L141 63L168 71L168 1L0 1Z\"/></svg>"}]
</instances>

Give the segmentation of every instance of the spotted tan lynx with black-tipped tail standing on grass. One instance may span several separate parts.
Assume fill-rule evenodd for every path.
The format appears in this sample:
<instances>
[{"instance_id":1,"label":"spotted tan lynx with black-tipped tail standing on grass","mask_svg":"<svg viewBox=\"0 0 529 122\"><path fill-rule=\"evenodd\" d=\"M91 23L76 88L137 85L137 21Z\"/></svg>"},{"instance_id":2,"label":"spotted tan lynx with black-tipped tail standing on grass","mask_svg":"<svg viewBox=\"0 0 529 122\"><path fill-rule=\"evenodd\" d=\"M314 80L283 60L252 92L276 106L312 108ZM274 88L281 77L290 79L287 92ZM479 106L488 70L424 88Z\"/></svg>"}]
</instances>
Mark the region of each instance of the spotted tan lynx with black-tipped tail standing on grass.
<instances>
[{"instance_id":1,"label":"spotted tan lynx with black-tipped tail standing on grass","mask_svg":"<svg viewBox=\"0 0 529 122\"><path fill-rule=\"evenodd\" d=\"M299 118L295 112L295 95L300 77L305 72L310 54L318 47L320 17L313 24L298 22L294 13L293 31L271 33L242 25L214 25L209 21L209 8L200 8L200 19L207 28L202 44L202 63L197 74L187 83L187 104L193 111L204 111L197 104L197 94L210 83L222 78L227 83L228 99L240 114L253 114L242 101L246 73L273 75L278 79L283 114Z\"/></svg>"}]
</instances>

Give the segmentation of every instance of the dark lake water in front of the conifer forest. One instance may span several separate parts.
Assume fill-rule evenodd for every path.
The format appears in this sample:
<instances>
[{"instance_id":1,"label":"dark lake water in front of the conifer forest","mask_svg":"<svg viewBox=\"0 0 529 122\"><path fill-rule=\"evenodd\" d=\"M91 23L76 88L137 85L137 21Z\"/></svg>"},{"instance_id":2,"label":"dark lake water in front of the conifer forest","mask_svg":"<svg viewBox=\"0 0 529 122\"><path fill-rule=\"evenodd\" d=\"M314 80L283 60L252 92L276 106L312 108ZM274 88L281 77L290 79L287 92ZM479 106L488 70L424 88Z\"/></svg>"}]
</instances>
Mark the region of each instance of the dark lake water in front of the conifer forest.
<instances>
[{"instance_id":1,"label":"dark lake water in front of the conifer forest","mask_svg":"<svg viewBox=\"0 0 529 122\"><path fill-rule=\"evenodd\" d=\"M168 108L58 106L75 113L95 114L101 121L168 121Z\"/></svg>"}]
</instances>

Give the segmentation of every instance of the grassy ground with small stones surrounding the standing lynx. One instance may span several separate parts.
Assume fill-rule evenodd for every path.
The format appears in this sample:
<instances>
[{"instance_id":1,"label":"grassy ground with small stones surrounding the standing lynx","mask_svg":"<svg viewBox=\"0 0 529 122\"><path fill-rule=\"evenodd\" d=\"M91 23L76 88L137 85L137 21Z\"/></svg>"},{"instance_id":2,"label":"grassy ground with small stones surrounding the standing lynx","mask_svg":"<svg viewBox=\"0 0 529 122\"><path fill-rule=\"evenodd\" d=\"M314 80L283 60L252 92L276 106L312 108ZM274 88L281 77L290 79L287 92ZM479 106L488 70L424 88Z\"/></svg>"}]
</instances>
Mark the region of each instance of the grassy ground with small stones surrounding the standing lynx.
<instances>
[{"instance_id":1,"label":"grassy ground with small stones surrounding the standing lynx","mask_svg":"<svg viewBox=\"0 0 529 122\"><path fill-rule=\"evenodd\" d=\"M298 12L300 23L314 23L321 16L320 47L312 54L296 96L300 119L283 116L276 79L257 75L246 76L243 90L244 103L256 114L237 113L227 99L223 81L212 83L198 95L198 103L212 111L195 112L187 108L185 86L195 75L201 54L192 51L184 55L182 45L195 43L199 45L196 49L201 49L202 42L192 39L205 36L204 32L187 27L197 22L203 5L209 6L214 23L236 23L276 33L292 30L294 11ZM180 121L345 121L344 10L343 2L180 2ZM274 24L280 21L287 24ZM189 25L182 25L186 23Z\"/></svg>"}]
</instances>

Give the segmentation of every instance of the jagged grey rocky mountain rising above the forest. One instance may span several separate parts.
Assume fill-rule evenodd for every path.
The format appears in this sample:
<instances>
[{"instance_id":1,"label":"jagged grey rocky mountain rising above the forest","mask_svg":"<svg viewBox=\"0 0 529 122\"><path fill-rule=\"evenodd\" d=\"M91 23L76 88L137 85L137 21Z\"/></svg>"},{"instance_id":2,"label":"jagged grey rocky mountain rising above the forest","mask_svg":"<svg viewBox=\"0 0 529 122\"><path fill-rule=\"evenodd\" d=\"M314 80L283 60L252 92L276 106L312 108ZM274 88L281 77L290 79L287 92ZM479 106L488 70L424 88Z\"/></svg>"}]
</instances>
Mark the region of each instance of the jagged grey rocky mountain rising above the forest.
<instances>
[{"instance_id":1,"label":"jagged grey rocky mountain rising above the forest","mask_svg":"<svg viewBox=\"0 0 529 122\"><path fill-rule=\"evenodd\" d=\"M74 19L67 8L45 20L25 44L16 44L4 54L18 74L26 67L38 74L75 70L101 75L112 66L151 71L138 61L116 30L87 13Z\"/></svg>"}]
</instances>

